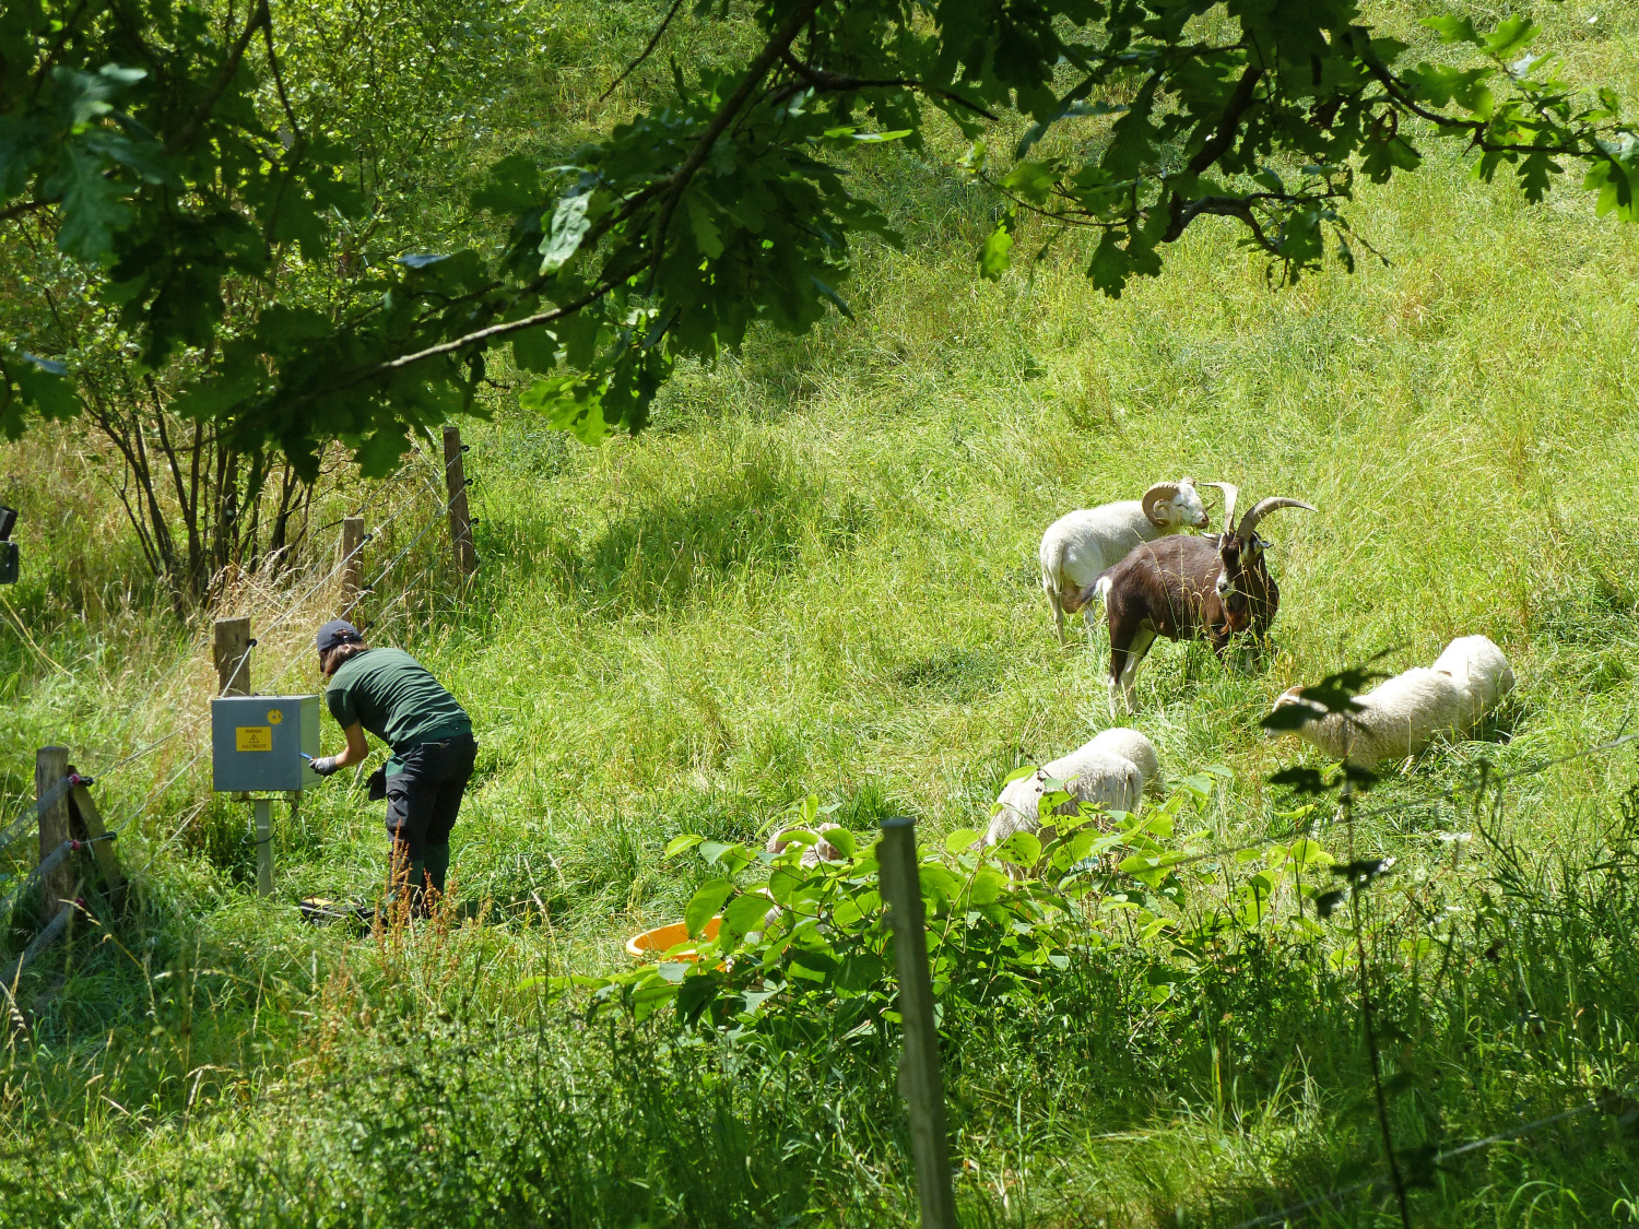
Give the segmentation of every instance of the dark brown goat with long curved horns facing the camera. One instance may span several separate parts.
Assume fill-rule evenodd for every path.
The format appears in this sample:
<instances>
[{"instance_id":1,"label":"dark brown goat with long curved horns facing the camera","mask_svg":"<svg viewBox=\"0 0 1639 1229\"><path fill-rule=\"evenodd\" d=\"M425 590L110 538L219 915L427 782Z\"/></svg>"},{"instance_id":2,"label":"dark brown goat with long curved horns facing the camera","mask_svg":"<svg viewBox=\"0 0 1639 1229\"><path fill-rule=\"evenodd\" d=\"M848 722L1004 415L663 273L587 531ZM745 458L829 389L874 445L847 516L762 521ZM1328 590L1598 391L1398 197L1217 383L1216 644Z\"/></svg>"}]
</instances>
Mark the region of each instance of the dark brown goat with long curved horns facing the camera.
<instances>
[{"instance_id":1,"label":"dark brown goat with long curved horns facing the camera","mask_svg":"<svg viewBox=\"0 0 1639 1229\"><path fill-rule=\"evenodd\" d=\"M1110 713L1136 706L1137 665L1157 636L1170 641L1211 641L1223 657L1231 637L1251 631L1262 641L1280 608L1280 588L1264 565L1265 542L1257 524L1277 508L1305 508L1303 500L1259 500L1234 523L1239 490L1208 482L1224 493L1224 531L1201 537L1162 537L1144 542L1126 559L1098 574L1080 601L1105 600L1110 626Z\"/></svg>"}]
</instances>

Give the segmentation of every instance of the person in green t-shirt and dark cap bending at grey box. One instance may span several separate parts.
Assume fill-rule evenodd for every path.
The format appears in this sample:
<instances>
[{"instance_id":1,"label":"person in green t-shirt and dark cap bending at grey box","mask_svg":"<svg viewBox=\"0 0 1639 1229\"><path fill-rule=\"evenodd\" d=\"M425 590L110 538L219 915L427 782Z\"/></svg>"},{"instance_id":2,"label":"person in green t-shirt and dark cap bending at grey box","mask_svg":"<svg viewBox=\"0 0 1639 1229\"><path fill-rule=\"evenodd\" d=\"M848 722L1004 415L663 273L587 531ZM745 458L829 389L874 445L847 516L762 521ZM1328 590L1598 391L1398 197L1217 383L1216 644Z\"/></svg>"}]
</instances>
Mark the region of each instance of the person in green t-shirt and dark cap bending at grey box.
<instances>
[{"instance_id":1,"label":"person in green t-shirt and dark cap bending at grey box","mask_svg":"<svg viewBox=\"0 0 1639 1229\"><path fill-rule=\"evenodd\" d=\"M403 649L372 649L344 619L318 629L318 665L329 680L325 705L347 749L315 759L313 772L329 777L362 764L370 754L365 731L392 747L385 767L387 834L393 842L388 882L395 900L408 891L411 913L425 914L426 890L433 900L444 893L449 831L479 752L472 719L415 657Z\"/></svg>"}]
</instances>

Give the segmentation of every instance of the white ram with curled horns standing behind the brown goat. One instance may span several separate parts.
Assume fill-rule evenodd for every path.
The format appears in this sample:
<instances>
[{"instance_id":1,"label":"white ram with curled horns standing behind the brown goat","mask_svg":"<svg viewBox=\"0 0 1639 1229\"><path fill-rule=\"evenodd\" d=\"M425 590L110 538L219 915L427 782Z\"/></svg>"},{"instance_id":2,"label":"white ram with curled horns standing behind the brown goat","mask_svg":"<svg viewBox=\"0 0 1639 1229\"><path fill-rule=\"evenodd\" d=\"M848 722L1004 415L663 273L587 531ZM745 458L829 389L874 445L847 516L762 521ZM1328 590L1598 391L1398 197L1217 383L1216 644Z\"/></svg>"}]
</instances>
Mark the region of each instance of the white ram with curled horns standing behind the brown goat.
<instances>
[{"instance_id":1,"label":"white ram with curled horns standing behind the brown goat","mask_svg":"<svg viewBox=\"0 0 1639 1229\"><path fill-rule=\"evenodd\" d=\"M1087 605L1082 592L1133 547L1183 529L1206 529L1206 506L1195 478L1157 482L1141 500L1103 503L1065 513L1041 536L1041 587L1064 644L1064 616Z\"/></svg>"}]
</instances>

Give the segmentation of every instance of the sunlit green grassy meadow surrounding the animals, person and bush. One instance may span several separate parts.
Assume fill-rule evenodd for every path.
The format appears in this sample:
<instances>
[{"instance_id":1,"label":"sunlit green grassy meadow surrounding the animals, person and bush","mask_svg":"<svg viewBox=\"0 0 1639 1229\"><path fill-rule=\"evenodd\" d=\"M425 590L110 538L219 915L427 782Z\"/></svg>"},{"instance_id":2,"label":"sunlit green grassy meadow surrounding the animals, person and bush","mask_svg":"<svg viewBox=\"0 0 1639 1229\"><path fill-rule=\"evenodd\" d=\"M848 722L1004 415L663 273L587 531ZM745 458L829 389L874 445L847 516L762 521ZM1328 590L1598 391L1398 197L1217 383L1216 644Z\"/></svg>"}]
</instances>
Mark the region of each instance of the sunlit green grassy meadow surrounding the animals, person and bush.
<instances>
[{"instance_id":1,"label":"sunlit green grassy meadow surrounding the animals, person and bush","mask_svg":"<svg viewBox=\"0 0 1639 1229\"><path fill-rule=\"evenodd\" d=\"M454 188L659 88L661 64L597 100L664 8L533 7L539 43L451 138ZM1424 7L1372 11L1426 41ZM1639 7L1532 11L1569 72L1636 95ZM665 51L703 61L739 33L680 18ZM1639 233L1572 188L1529 205L1475 182L1452 147L1362 184L1352 275L1277 287L1223 221L1106 300L1075 234L977 277L998 202L962 151L952 131L862 164L905 244L856 252L854 320L680 369L638 438L554 433L518 406L526 377L497 374L461 423L470 585L426 444L379 483L338 454L293 570L229 580L215 614L252 618L256 688L318 690L311 633L338 595L308 590L362 508L364 570L385 570L372 641L472 713L461 905L410 931L292 908L379 891L362 773L275 808L280 890L256 898L246 808L210 793L211 614L177 616L148 578L95 438L0 446L25 551L0 590L0 819L33 798L33 749L67 746L129 823L133 875L118 927L18 985L0 1221L916 1224L893 1029L841 1037L821 1013L772 1045L670 1011L588 1014L549 978L624 970L629 936L683 916L715 872L662 857L679 834L760 844L815 795L862 842L911 814L942 850L1016 767L1118 724L1103 628L1075 618L1059 646L1036 546L1072 508L1192 475L1319 511L1265 523L1282 605L1262 662L1159 641L1139 673L1121 724L1169 787L1224 770L1183 813L1190 849L1285 831L1295 801L1269 777L1326 767L1259 726L1287 687L1373 654L1428 665L1475 633L1518 675L1480 737L1383 765L1352 829L1316 832L1339 860L1395 859L1362 926L1413 1222L1639 1222L1639 744L1564 759L1639 731ZM449 208L428 203L434 231L479 226ZM1026 224L1016 251L1047 239ZM1480 765L1521 775L1475 806ZM1224 857L1195 890L1259 865ZM13 916L11 950L33 924ZM1144 970L1164 954L1110 923L1128 937L1044 977L1033 1008L952 1008L964 1224L1400 1224L1347 911L1316 929L1242 936L1157 1000Z\"/></svg>"}]
</instances>

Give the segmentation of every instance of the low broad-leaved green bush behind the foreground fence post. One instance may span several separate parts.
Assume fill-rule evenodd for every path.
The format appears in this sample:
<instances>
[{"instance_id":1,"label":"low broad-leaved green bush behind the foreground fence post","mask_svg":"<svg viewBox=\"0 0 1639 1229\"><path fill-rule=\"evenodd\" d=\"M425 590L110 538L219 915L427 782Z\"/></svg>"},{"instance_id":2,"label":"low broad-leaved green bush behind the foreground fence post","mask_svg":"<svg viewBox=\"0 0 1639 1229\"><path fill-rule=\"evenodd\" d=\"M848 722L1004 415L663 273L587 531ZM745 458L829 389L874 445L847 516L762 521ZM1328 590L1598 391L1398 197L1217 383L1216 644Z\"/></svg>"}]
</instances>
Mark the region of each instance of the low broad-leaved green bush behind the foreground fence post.
<instances>
[{"instance_id":1,"label":"low broad-leaved green bush behind the foreground fence post","mask_svg":"<svg viewBox=\"0 0 1639 1229\"><path fill-rule=\"evenodd\" d=\"M1008 780L1034 772L1024 767ZM1118 947L1146 955L1136 990L1164 1003L1203 960L1246 936L1323 937L1334 859L1311 836L1203 850L1201 811L1228 775L1214 765L1188 777L1144 814L1057 813L1070 795L1049 780L1039 803L1046 842L1016 832L985 847L977 831L957 829L942 849L919 846L941 1026L1052 1000L1074 960ZM898 1013L875 842L829 824L834 810L813 795L797 803L780 852L675 837L665 857L693 852L716 872L685 909L690 939L626 972L552 978L552 991L588 990L592 1014L620 1008L642 1021L670 1006L682 1026L793 1045L820 1032L887 1039ZM1296 832L1313 811L1311 803L1277 818ZM803 865L821 839L841 857Z\"/></svg>"}]
</instances>

